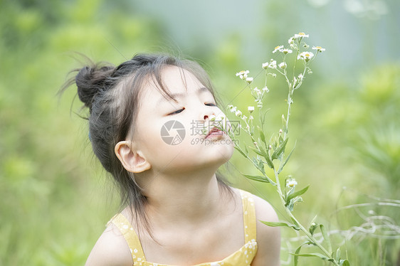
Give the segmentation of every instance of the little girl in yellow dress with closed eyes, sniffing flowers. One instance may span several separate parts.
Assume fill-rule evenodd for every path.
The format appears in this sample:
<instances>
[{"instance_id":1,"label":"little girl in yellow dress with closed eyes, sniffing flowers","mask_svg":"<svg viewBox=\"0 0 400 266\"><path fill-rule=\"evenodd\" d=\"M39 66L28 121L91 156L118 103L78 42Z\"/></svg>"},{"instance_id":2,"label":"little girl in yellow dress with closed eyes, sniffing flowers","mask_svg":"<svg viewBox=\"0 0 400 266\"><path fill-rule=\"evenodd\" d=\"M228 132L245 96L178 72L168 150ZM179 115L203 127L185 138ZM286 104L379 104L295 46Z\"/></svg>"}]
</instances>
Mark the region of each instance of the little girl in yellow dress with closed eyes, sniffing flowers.
<instances>
[{"instance_id":1,"label":"little girl in yellow dress with closed eyes, sniffing flowers","mask_svg":"<svg viewBox=\"0 0 400 266\"><path fill-rule=\"evenodd\" d=\"M67 86L90 110L93 151L123 206L86 265L280 265L280 231L260 223L278 220L273 208L216 175L233 146L212 126L224 115L204 69L140 54L77 72ZM199 124L210 127L189 130Z\"/></svg>"}]
</instances>

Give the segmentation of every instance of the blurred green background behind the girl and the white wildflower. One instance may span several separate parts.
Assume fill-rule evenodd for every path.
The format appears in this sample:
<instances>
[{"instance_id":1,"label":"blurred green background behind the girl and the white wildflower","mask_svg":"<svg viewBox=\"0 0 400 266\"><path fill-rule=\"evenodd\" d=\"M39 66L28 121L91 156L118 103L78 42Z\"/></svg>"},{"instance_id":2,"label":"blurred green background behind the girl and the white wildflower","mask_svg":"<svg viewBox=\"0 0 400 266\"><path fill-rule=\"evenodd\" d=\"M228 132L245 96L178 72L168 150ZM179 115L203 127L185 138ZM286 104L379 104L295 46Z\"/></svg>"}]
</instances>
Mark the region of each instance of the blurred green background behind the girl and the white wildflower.
<instances>
[{"instance_id":1,"label":"blurred green background behind the girl and the white wildflower","mask_svg":"<svg viewBox=\"0 0 400 266\"><path fill-rule=\"evenodd\" d=\"M399 10L397 0L0 0L0 265L83 265L117 211L118 193L77 115L85 112L73 102L75 88L56 96L68 71L81 66L73 52L115 64L139 52L189 55L224 105L246 110L253 100L235 73L256 75L273 48L300 31L326 52L293 105L288 145L297 144L284 174L311 184L295 214L305 224L317 214L352 265L396 265ZM286 92L281 78L268 87L272 134ZM254 171L240 154L227 168L235 186L284 217L273 188L241 176ZM289 230L283 236L287 265L300 242Z\"/></svg>"}]
</instances>

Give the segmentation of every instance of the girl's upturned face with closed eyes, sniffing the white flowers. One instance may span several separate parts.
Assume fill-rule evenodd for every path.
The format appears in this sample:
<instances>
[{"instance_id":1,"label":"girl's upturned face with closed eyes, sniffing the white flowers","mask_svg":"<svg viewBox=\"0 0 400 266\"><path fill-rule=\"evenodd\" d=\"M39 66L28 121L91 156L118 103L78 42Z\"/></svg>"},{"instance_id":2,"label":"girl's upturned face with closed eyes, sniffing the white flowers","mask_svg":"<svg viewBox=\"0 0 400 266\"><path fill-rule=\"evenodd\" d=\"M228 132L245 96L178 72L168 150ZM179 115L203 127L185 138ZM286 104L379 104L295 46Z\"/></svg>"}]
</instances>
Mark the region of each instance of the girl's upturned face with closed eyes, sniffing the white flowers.
<instances>
[{"instance_id":1,"label":"girl's upturned face with closed eyes, sniffing the white flowers","mask_svg":"<svg viewBox=\"0 0 400 266\"><path fill-rule=\"evenodd\" d=\"M133 136L137 149L154 170L217 169L233 153L231 139L212 125L226 116L189 71L170 66L162 80L176 101L164 97L152 81L144 85Z\"/></svg>"}]
</instances>

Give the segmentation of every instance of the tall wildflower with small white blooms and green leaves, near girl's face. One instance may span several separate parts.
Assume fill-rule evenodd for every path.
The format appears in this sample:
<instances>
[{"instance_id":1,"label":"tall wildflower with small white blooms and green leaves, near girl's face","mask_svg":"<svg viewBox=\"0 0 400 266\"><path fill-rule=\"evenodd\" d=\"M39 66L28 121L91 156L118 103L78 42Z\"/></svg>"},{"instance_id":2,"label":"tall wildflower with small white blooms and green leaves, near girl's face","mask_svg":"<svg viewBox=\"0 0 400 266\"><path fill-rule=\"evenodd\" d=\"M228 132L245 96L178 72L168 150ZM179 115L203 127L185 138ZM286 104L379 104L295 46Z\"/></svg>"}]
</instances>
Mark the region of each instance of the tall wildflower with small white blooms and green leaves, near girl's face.
<instances>
[{"instance_id":1,"label":"tall wildflower with small white blooms and green leaves, near girl's face","mask_svg":"<svg viewBox=\"0 0 400 266\"><path fill-rule=\"evenodd\" d=\"M246 146L246 144L236 145L235 149L248 159L248 161L251 161L251 164L260 172L257 176L248 174L244 176L251 180L270 183L275 186L280 201L285 207L285 212L290 217L289 220L280 221L278 223L268 221L263 221L263 223L269 226L293 228L293 230L299 231L304 235L305 242L292 253L292 255L294 255L294 265L298 265L298 257L320 257L322 260L332 262L333 265L349 265L348 260L342 259L340 248L332 251L330 238L324 225L317 223L314 218L310 222L310 225L305 226L293 215L295 203L302 201L301 196L307 191L308 186L298 189L300 184L292 176L287 176L285 181L281 184L282 178L280 174L295 149L295 147L293 147L290 152L286 150L293 95L294 92L301 87L305 78L312 74L310 68L312 61L317 58L318 54L325 51L325 48L320 46L312 46L310 49L310 46L305 43L305 39L308 37L309 35L305 33L295 34L293 37L289 38L286 46L276 46L272 50L275 57L278 55L279 62L277 61L278 59L270 59L268 62L261 65L265 72L265 83L262 88L253 85L254 79L249 75L250 72L248 70L236 73L236 76L243 80L250 89L251 95L254 98L254 106L249 106L247 112L241 112L237 107L228 105L228 110L233 112L236 117L243 120L244 126L241 126L242 132L248 134L252 142L250 146ZM300 65L301 68L299 68ZM301 71L298 69L301 69ZM288 85L288 111L286 114L282 115L282 128L279 129L277 132L278 134L267 139L264 133L265 112L263 112L263 99L269 92L267 87L268 78L275 78L277 75L282 75ZM258 113L258 115L255 115L256 113ZM248 116L246 116L246 114L248 114ZM254 119L254 117L258 117L258 119ZM227 131L227 133L232 139L236 139L232 132ZM265 172L265 167L270 168L274 176L268 176ZM320 231L318 234L323 236L323 241L315 238L315 233L317 231ZM314 245L319 248L320 252L302 253L301 248L304 245Z\"/></svg>"}]
</instances>

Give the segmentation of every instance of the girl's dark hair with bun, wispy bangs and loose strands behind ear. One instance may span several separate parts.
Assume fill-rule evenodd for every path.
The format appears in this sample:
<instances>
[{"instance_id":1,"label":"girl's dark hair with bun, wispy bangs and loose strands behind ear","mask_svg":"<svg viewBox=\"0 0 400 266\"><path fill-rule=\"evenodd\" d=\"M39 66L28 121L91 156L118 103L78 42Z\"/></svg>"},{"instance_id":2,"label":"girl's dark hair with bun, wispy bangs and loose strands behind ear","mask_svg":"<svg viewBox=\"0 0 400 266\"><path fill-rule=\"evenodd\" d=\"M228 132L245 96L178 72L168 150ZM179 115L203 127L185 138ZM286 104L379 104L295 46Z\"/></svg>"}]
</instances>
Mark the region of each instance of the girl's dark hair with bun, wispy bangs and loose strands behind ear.
<instances>
[{"instance_id":1,"label":"girl's dark hair with bun, wispy bangs and loose strands behind ear","mask_svg":"<svg viewBox=\"0 0 400 266\"><path fill-rule=\"evenodd\" d=\"M150 232L144 213L146 197L135 182L135 175L126 171L115 155L115 145L125 140L135 130L141 87L151 78L158 90L172 99L162 82L162 70L167 66L191 72L214 95L206 71L198 63L170 55L137 54L117 67L110 63L93 63L72 72L78 72L61 88L63 92L74 83L78 87L79 99L89 108L89 135L93 151L102 166L115 179L120 188L121 207L132 206L132 214L140 219ZM228 188L225 181L217 176L219 184ZM131 210L132 210L131 208Z\"/></svg>"}]
</instances>

